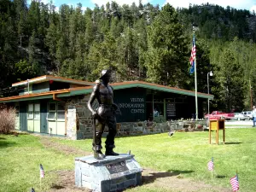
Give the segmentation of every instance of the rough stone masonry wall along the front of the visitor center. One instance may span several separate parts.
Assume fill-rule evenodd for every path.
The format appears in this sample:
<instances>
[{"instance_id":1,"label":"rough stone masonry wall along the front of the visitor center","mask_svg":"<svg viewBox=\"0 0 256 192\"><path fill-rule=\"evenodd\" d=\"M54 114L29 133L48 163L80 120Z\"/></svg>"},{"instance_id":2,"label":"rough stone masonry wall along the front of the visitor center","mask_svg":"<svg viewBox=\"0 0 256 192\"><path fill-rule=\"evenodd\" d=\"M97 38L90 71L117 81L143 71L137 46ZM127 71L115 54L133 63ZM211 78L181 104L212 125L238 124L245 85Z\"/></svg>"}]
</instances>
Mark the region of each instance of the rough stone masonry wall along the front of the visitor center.
<instances>
[{"instance_id":1,"label":"rough stone masonry wall along the front of the visitor center","mask_svg":"<svg viewBox=\"0 0 256 192\"><path fill-rule=\"evenodd\" d=\"M67 137L75 140L92 137L91 113L87 108L89 97L89 95L84 96L83 98L74 97L67 102L67 109L76 109L76 131L73 131L72 137L70 137L71 134L67 134ZM67 125L69 125L68 118ZM117 136L148 135L168 131L203 131L206 126L206 120L180 120L161 123L152 121L121 122L117 123ZM67 128L67 131L68 130L69 129ZM106 136L107 133L108 126L105 128L103 136Z\"/></svg>"}]
</instances>

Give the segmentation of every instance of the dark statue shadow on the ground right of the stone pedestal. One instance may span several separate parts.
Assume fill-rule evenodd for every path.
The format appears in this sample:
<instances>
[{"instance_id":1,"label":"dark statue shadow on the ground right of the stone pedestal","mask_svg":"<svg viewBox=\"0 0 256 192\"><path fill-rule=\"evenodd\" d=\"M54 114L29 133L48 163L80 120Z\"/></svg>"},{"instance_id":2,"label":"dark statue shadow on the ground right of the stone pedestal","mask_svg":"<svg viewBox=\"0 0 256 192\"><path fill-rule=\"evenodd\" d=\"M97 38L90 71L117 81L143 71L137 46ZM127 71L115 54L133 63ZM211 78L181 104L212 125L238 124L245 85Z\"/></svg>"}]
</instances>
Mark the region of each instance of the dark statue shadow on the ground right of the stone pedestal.
<instances>
[{"instance_id":1,"label":"dark statue shadow on the ground right of the stone pedestal","mask_svg":"<svg viewBox=\"0 0 256 192\"><path fill-rule=\"evenodd\" d=\"M184 174L184 173L191 173L194 171L181 171L181 170L168 170L168 172L152 172L149 173L148 176L143 176L143 183L154 183L154 180L157 178L162 178L162 177L172 177L172 176L177 176L179 174Z\"/></svg>"}]
</instances>

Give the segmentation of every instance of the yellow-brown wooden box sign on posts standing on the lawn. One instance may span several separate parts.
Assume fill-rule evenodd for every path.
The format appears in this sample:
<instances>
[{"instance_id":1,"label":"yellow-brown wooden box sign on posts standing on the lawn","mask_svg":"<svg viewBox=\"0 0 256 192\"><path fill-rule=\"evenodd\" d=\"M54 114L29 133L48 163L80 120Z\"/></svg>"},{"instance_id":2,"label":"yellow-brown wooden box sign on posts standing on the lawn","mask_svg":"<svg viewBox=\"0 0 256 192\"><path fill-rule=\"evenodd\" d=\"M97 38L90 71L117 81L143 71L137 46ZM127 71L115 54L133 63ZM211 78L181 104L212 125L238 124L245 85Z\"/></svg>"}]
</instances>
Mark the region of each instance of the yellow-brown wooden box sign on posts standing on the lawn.
<instances>
[{"instance_id":1,"label":"yellow-brown wooden box sign on posts standing on the lawn","mask_svg":"<svg viewBox=\"0 0 256 192\"><path fill-rule=\"evenodd\" d=\"M225 143L225 119L209 119L209 143L211 144L212 130L216 133L216 143L218 144L218 131L223 131L223 142Z\"/></svg>"}]
</instances>

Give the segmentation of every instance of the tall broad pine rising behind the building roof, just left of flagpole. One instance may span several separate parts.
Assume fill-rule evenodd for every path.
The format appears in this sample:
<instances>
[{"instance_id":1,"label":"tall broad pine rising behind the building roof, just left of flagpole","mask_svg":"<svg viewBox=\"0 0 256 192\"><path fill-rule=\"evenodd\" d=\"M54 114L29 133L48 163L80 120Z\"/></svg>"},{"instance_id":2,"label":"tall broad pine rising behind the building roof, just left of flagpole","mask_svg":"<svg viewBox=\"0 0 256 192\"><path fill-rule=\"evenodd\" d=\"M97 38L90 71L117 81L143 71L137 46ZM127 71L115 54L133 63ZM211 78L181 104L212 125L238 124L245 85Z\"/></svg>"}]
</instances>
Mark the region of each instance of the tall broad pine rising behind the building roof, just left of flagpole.
<instances>
[{"instance_id":1,"label":"tall broad pine rising behind the building roof, just left of flagpole","mask_svg":"<svg viewBox=\"0 0 256 192\"><path fill-rule=\"evenodd\" d=\"M187 39L177 12L167 3L148 28L148 51L145 56L148 81L183 86L189 61Z\"/></svg>"}]
</instances>

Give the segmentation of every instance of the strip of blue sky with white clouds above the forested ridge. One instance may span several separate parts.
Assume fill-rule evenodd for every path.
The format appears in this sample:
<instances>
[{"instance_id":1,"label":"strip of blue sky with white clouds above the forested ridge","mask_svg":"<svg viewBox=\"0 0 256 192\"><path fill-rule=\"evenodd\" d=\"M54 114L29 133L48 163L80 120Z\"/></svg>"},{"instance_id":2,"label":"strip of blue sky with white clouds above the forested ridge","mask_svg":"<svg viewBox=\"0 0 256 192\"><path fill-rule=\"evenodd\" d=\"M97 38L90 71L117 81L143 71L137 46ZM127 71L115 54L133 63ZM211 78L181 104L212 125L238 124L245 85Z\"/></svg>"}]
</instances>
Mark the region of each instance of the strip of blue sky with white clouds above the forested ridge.
<instances>
[{"instance_id":1,"label":"strip of blue sky with white clouds above the forested ridge","mask_svg":"<svg viewBox=\"0 0 256 192\"><path fill-rule=\"evenodd\" d=\"M50 0L41 0L41 2L49 3ZM98 6L106 5L107 2L111 2L112 0L52 0L56 7L60 7L61 4L68 4L76 6L77 3L82 3L82 7L85 10L86 8L93 9L95 4L98 4ZM30 3L31 0L28 0L28 3ZM122 5L124 3L130 4L132 2L135 2L138 4L139 0L115 0L116 3L119 5ZM236 8L236 9L247 9L250 11L256 12L256 0L143 0L143 4L151 3L153 5L159 4L160 7L165 5L166 3L172 4L173 7L183 7L188 8L189 3L191 4L201 4L201 3L212 3L212 4L218 4L224 8L226 8L228 5L230 7Z\"/></svg>"}]
</instances>

